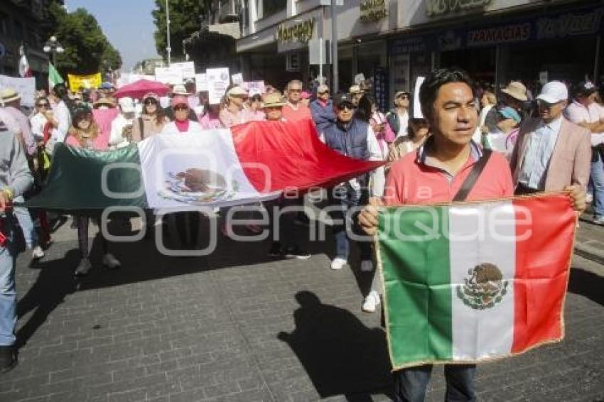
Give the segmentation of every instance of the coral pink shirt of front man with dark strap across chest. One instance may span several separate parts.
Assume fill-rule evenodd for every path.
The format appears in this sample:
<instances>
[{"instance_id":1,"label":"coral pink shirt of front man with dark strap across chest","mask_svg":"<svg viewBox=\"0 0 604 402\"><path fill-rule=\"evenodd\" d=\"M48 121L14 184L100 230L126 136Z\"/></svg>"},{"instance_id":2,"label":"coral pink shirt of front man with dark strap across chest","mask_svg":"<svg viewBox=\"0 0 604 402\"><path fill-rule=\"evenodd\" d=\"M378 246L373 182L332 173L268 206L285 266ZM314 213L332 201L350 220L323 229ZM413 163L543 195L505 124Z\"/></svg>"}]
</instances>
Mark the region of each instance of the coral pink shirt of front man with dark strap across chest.
<instances>
[{"instance_id":1,"label":"coral pink shirt of front man with dark strap across chest","mask_svg":"<svg viewBox=\"0 0 604 402\"><path fill-rule=\"evenodd\" d=\"M475 157L470 155L463 168L453 177L431 166L420 157L424 147L408 153L396 161L388 173L384 189L384 204L422 204L451 202L470 174ZM482 170L482 174L470 191L467 200L489 200L514 195L509 163L494 152Z\"/></svg>"}]
</instances>

